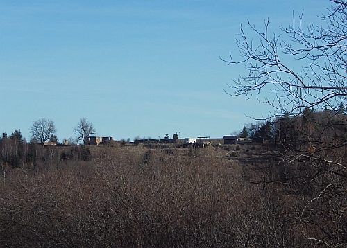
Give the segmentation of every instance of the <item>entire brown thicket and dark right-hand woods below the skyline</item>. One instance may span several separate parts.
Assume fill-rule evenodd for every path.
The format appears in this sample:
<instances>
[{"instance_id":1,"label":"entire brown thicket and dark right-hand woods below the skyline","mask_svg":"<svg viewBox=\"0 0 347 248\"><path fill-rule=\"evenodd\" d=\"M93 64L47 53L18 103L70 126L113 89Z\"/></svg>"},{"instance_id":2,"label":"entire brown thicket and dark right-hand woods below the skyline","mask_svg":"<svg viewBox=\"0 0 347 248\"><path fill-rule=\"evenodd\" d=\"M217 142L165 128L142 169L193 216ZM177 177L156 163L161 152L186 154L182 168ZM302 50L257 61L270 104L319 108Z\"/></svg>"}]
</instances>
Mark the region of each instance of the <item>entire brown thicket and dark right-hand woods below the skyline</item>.
<instances>
[{"instance_id":1,"label":"entire brown thicket and dark right-hand woods below the skyline","mask_svg":"<svg viewBox=\"0 0 347 248\"><path fill-rule=\"evenodd\" d=\"M3 136L1 247L343 247L347 117L305 109L271 130L208 148Z\"/></svg>"}]
</instances>

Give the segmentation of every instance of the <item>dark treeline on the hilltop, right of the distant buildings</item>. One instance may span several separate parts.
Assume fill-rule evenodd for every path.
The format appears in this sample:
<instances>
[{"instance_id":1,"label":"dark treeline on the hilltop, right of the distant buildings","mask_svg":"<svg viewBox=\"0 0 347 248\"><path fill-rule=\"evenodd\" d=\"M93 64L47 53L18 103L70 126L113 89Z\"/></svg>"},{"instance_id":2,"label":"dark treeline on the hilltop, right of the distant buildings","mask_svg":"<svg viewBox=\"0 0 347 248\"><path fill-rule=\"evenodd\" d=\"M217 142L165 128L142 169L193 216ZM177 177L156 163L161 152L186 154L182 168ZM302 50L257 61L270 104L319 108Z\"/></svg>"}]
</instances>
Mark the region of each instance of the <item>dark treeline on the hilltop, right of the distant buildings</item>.
<instances>
[{"instance_id":1,"label":"dark treeline on the hilltop, right of the distant buildings","mask_svg":"<svg viewBox=\"0 0 347 248\"><path fill-rule=\"evenodd\" d=\"M298 148L303 143L344 143L347 131L347 116L344 109L338 112L325 109L314 111L306 108L296 116L285 113L269 121L257 121L244 125L241 131L235 131L239 138L264 139L284 145L286 148ZM322 141L322 139L324 141ZM320 140L320 141L319 141ZM313 142L313 143L312 143Z\"/></svg>"}]
</instances>

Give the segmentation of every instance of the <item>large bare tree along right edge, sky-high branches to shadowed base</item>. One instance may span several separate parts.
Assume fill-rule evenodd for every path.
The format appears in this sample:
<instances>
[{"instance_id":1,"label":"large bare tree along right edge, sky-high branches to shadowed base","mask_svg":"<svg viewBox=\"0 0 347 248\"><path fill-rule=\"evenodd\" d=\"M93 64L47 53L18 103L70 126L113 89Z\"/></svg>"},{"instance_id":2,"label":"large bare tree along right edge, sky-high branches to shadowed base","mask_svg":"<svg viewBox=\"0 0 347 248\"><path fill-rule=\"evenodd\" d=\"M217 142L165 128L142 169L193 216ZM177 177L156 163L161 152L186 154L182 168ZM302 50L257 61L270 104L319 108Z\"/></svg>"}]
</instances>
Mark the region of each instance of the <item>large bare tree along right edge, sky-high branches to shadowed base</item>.
<instances>
[{"instance_id":1,"label":"large bare tree along right edge, sky-high branches to shadowed base","mask_svg":"<svg viewBox=\"0 0 347 248\"><path fill-rule=\"evenodd\" d=\"M283 37L269 34L269 19L264 30L248 21L259 39L249 38L241 28L236 37L240 59L230 53L230 59L221 60L246 68L228 85L228 94L264 96L273 107L270 118L281 116L283 161L260 181L276 181L276 173L282 173L287 192L300 195L293 218L303 235L319 247L345 247L347 117L339 109L347 100L347 2L330 2L321 24L304 27L301 15L298 24L294 19L281 28ZM308 118L308 109L316 114Z\"/></svg>"}]
</instances>

